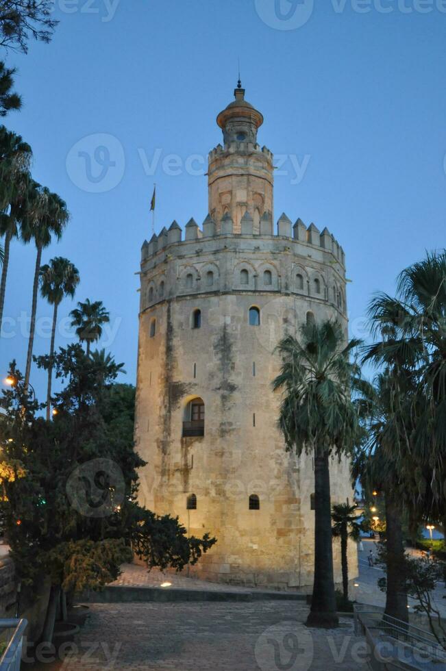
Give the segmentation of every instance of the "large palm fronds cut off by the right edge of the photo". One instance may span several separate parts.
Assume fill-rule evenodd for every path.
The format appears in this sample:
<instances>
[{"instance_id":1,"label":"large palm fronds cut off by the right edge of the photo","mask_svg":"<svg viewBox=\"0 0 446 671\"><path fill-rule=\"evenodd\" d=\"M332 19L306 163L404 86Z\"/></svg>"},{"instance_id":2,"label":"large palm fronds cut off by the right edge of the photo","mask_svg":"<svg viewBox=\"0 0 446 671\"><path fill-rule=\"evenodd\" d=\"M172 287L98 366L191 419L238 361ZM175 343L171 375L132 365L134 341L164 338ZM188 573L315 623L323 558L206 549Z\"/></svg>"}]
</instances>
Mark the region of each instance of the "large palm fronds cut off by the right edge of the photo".
<instances>
[{"instance_id":1,"label":"large palm fronds cut off by the right edge of the photo","mask_svg":"<svg viewBox=\"0 0 446 671\"><path fill-rule=\"evenodd\" d=\"M364 360L391 368L402 390L394 395L393 410L404 430L395 433L395 442L385 442L384 451L399 460L411 485L412 511L419 511L423 497L425 519L446 524L446 251L406 268L397 297L378 294L369 314L379 340ZM409 379L413 393L407 395ZM407 455L417 459L415 470Z\"/></svg>"}]
</instances>

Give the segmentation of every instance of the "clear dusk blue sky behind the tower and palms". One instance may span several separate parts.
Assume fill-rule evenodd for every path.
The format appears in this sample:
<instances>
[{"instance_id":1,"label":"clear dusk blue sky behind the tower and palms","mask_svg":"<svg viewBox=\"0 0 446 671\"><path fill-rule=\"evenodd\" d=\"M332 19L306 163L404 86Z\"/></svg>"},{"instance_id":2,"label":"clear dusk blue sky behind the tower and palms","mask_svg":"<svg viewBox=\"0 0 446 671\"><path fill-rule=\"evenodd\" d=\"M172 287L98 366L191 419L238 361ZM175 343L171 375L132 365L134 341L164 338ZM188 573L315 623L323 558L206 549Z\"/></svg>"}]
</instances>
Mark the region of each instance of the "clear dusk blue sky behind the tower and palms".
<instances>
[{"instance_id":1,"label":"clear dusk blue sky behind the tower and palms","mask_svg":"<svg viewBox=\"0 0 446 671\"><path fill-rule=\"evenodd\" d=\"M445 246L446 3L282 0L280 18L275 0L110 1L56 0L52 42L9 53L24 104L5 124L32 145L34 178L68 203L69 227L43 262L71 259L82 278L75 301L100 299L110 309L116 333L99 346L125 362L123 381L136 379L135 273L151 236L153 182L157 232L174 218L201 225L206 177L190 174L186 162L221 142L215 118L232 101L238 57L246 98L264 114L260 144L293 157L287 174L276 175L275 220L286 212L334 233L352 280L351 330L363 336L371 294L393 293L402 268ZM116 166L103 181L88 181L78 151L93 155L100 144ZM171 154L178 175L163 168ZM292 160L306 166L300 180ZM91 171L100 176L94 160ZM25 368L27 340L16 320L29 315L33 273L34 249L14 242L3 336L16 335L2 338L2 370L12 357ZM64 301L60 317L73 307ZM40 299L36 354L49 349L45 316L51 307ZM58 346L70 342L57 338ZM36 368L32 382L43 396Z\"/></svg>"}]
</instances>

